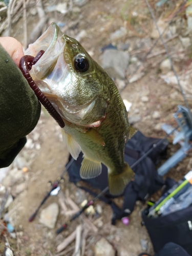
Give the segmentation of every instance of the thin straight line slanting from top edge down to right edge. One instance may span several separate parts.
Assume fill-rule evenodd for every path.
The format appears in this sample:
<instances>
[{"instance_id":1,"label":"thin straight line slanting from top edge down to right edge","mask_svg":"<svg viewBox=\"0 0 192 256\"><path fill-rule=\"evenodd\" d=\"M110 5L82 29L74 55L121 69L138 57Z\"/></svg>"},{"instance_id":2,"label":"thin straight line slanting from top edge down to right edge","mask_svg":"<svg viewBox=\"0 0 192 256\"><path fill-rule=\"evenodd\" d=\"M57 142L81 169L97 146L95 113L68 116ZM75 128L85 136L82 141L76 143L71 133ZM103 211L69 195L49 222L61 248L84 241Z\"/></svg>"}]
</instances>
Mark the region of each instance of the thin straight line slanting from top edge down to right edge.
<instances>
[{"instance_id":1,"label":"thin straight line slanting from top edge down to right edge","mask_svg":"<svg viewBox=\"0 0 192 256\"><path fill-rule=\"evenodd\" d=\"M186 97L185 97L185 94L184 94L184 92L183 92L181 83L180 83L180 81L179 81L179 77L178 77L177 72L176 72L176 70L175 70L175 68L174 68L173 61L172 61L172 59L170 58L170 55L169 55L169 52L168 52L168 50L167 50L167 46L166 46L166 44L165 44L165 42L164 42L164 39L163 39L163 37L162 37L162 34L160 33L160 30L159 30L159 27L158 27L158 25L157 25L157 22L156 22L154 13L153 13L153 11L152 11L152 8L151 8L150 4L148 3L148 0L145 0L145 2L146 2L146 4L147 4L148 9L150 10L150 13L151 13L151 15L152 15L153 21L154 21L154 23L155 23L155 26L156 26L157 31L158 31L158 33L159 33L159 36L160 36L160 38L161 38L162 44L163 44L163 46L164 46L164 48L165 48L167 57L168 57L168 59L169 59L169 61L170 61L170 66L172 67L172 70L173 70L173 72L174 72L174 75L175 75L175 77L176 77L176 79L177 79L177 82L178 82L178 85L179 85L179 89L180 89L181 94L182 94L182 96L183 96L183 99L184 99L184 101L185 101L185 105L186 105L187 109L188 109L189 112L190 112L190 108L189 108L187 99L186 99ZM191 114L190 114L190 115L191 115Z\"/></svg>"}]
</instances>

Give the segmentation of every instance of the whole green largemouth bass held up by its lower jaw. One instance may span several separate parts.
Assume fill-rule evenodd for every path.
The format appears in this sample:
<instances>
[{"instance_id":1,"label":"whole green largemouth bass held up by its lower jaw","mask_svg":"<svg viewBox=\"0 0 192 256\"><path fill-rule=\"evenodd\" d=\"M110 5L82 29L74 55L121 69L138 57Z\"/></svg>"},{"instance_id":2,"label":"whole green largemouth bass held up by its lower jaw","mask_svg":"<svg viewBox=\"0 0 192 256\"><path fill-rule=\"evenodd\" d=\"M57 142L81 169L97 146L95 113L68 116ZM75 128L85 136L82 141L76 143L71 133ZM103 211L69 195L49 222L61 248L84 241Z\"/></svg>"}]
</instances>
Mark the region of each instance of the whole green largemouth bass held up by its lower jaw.
<instances>
[{"instance_id":1,"label":"whole green largemouth bass held up by its lower jaw","mask_svg":"<svg viewBox=\"0 0 192 256\"><path fill-rule=\"evenodd\" d=\"M65 122L62 133L72 157L83 152L80 176L98 176L103 163L110 193L120 195L134 177L124 162L125 143L134 130L115 83L77 40L54 23L25 54L36 56L40 50L45 53L30 74Z\"/></svg>"}]
</instances>

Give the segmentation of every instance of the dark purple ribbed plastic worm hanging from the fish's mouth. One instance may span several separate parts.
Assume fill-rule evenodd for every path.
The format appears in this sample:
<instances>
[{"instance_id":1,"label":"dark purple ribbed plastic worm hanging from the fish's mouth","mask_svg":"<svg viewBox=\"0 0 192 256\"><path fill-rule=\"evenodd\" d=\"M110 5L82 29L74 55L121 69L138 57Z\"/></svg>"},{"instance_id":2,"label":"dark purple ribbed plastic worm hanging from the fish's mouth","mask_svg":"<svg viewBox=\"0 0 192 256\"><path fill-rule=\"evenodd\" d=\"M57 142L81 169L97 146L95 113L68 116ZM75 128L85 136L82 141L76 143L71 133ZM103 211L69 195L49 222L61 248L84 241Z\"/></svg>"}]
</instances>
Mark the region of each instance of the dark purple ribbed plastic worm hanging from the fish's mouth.
<instances>
[{"instance_id":1,"label":"dark purple ribbed plastic worm hanging from the fish's mouth","mask_svg":"<svg viewBox=\"0 0 192 256\"><path fill-rule=\"evenodd\" d=\"M36 83L33 81L31 75L29 74L29 71L31 70L32 66L37 62L37 60L40 59L40 57L44 54L44 51L40 51L37 53L35 57L30 55L25 55L20 59L19 67L22 71L23 75L27 79L29 86L34 91L35 95L37 96L38 100L42 105L45 106L46 110L49 112L49 114L57 121L57 123L60 125L61 128L65 126L65 123L63 122L61 116L56 111L54 106L51 104L51 102L48 100L48 98L41 92L41 90L38 88ZM29 64L28 64L29 63Z\"/></svg>"}]
</instances>

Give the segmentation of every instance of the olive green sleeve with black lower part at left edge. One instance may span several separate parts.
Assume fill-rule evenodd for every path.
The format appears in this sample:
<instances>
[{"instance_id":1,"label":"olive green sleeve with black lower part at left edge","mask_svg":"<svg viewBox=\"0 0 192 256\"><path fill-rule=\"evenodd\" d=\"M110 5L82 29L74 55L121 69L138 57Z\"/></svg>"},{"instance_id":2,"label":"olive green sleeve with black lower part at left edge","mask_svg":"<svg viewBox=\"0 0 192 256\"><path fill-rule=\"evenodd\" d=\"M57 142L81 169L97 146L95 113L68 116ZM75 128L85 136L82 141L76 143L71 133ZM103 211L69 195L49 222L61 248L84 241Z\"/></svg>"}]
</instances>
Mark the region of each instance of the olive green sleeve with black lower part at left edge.
<instances>
[{"instance_id":1,"label":"olive green sleeve with black lower part at left edge","mask_svg":"<svg viewBox=\"0 0 192 256\"><path fill-rule=\"evenodd\" d=\"M39 116L37 97L0 45L0 168L10 165L22 150Z\"/></svg>"}]
</instances>

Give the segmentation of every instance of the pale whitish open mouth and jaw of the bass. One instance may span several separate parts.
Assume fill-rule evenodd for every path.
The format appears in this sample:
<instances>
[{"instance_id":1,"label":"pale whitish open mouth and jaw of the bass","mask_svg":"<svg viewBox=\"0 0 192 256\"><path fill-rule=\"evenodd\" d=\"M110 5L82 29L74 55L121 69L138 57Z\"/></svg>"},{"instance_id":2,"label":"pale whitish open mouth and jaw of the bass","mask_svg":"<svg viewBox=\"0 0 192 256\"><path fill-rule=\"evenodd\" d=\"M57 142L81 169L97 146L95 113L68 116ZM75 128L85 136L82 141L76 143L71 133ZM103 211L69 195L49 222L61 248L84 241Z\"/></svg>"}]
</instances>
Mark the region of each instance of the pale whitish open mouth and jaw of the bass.
<instances>
[{"instance_id":1,"label":"pale whitish open mouth and jaw of the bass","mask_svg":"<svg viewBox=\"0 0 192 256\"><path fill-rule=\"evenodd\" d=\"M42 34L29 48L25 51L25 55L35 57L40 50L45 53L33 65L30 75L33 80L42 80L53 71L57 59L64 52L66 46L66 36L60 31L59 27L52 23L50 27ZM67 66L67 63L63 63Z\"/></svg>"}]
</instances>

